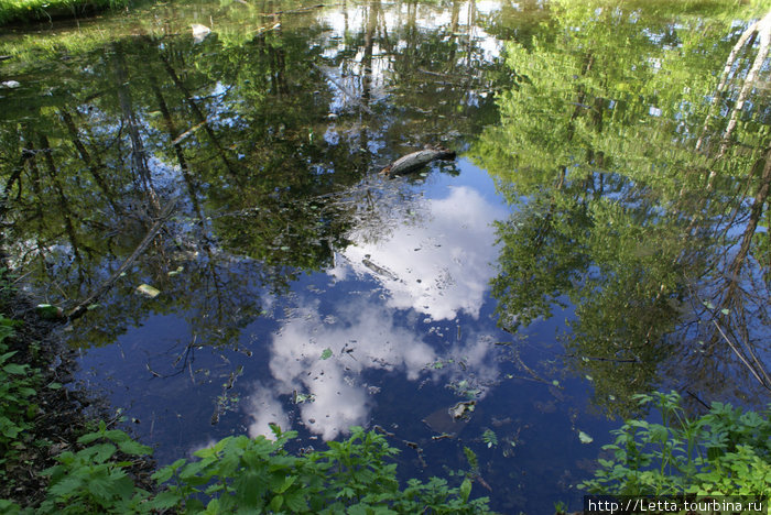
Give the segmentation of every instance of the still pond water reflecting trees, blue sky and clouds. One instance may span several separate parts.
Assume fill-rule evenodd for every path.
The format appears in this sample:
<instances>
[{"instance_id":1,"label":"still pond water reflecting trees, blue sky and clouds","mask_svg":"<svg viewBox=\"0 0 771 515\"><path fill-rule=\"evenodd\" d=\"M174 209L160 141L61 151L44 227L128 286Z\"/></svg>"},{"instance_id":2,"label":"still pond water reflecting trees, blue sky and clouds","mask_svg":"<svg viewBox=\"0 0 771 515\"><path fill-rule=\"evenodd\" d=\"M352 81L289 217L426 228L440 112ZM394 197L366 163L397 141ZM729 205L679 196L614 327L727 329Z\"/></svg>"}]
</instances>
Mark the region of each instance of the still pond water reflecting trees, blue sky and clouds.
<instances>
[{"instance_id":1,"label":"still pond water reflecting trees, blue sky and clouds","mask_svg":"<svg viewBox=\"0 0 771 515\"><path fill-rule=\"evenodd\" d=\"M762 39L731 61L762 14L180 2L8 30L6 252L161 463L358 425L404 474L471 449L500 512L577 508L634 394L768 402ZM379 174L424 144L457 158Z\"/></svg>"}]
</instances>

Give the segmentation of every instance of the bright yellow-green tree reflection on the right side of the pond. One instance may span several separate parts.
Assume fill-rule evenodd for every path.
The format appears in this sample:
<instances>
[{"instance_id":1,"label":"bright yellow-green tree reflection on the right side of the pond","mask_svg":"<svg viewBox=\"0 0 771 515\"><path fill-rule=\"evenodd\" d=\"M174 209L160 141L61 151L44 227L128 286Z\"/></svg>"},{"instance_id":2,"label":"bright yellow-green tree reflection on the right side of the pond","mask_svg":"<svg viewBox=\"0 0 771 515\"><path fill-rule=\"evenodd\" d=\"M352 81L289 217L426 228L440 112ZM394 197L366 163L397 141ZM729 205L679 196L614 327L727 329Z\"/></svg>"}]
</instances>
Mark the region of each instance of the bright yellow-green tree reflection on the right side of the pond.
<instances>
[{"instance_id":1,"label":"bright yellow-green tree reflection on the right side of the pond","mask_svg":"<svg viewBox=\"0 0 771 515\"><path fill-rule=\"evenodd\" d=\"M748 362L768 335L760 308L768 287L753 281L763 266L752 259L742 272L768 195L764 99L753 97L749 112L734 106L743 124L715 116L737 111L710 107L732 46L725 34L741 34L727 17L699 21L698 36L687 19L600 1L562 2L554 19L556 37L507 48L517 85L499 97L501 123L473 150L517 206L499 226L504 246L493 295L504 327L550 316L569 298L576 320L567 352L593 376L596 402L625 413L662 363L689 363L694 343L709 341L694 327L712 335L712 349L723 340L715 363L734 353L716 327L737 331ZM698 142L715 134L724 141L730 131L737 144L705 155ZM741 185L754 186L742 193ZM720 288L718 276L732 280ZM688 324L684 306L703 297L717 306L710 313L731 317ZM675 346L684 358L674 357ZM673 381L703 390L706 370L689 365Z\"/></svg>"}]
</instances>

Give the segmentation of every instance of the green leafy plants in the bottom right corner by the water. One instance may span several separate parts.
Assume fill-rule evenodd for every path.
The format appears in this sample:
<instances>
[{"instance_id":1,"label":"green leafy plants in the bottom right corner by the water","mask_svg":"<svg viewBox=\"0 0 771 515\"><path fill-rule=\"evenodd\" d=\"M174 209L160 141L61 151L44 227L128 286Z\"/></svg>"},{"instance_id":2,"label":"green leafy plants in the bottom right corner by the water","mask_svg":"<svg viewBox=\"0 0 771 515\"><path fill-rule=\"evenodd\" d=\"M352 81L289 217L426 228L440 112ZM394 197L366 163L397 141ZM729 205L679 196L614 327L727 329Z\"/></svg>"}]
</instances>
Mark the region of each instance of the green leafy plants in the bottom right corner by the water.
<instances>
[{"instance_id":1,"label":"green leafy plants in the bottom right corner by the water","mask_svg":"<svg viewBox=\"0 0 771 515\"><path fill-rule=\"evenodd\" d=\"M595 478L579 487L618 495L764 495L771 487L771 406L761 413L714 403L689 418L681 396L638 395L662 423L628 420L602 449Z\"/></svg>"}]
</instances>

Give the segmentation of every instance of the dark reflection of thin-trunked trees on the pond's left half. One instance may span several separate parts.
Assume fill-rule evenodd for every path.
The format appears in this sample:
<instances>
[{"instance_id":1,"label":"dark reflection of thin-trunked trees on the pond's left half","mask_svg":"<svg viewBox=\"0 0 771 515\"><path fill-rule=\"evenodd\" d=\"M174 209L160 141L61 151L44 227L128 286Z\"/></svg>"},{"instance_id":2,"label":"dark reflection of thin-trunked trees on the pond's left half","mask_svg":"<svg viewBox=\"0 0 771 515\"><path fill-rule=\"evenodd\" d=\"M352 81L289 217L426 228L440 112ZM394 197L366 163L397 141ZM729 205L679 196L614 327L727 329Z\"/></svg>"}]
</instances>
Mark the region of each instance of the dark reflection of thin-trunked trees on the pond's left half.
<instances>
[{"instance_id":1,"label":"dark reflection of thin-trunked trees on the pond's left half","mask_svg":"<svg viewBox=\"0 0 771 515\"><path fill-rule=\"evenodd\" d=\"M362 12L343 45L323 23L293 30L276 13L281 24L249 39L220 25L198 45L131 36L69 48L83 66L62 65L56 54L35 63L59 80L48 89L41 80L28 112L3 113L3 154L15 156L2 161L3 204L19 263L35 271L47 300L67 307L98 291L158 213L177 206L100 307L78 321L74 342L109 343L126 330L121 320L139 324L150 313L184 313L199 343L234 342L262 310L256 292L284 291L302 271L330 266L355 228L387 231L387 206L416 216L399 201L403 185L373 188L362 177L402 152L380 155L384 134L410 144L447 134L460 105L474 123L480 106L463 99L480 85L468 72L484 55L478 42L454 35L464 30L457 15L445 42L446 29L419 29L416 6L404 23L378 1ZM384 85L421 67L423 81L394 83L400 107L383 106ZM338 69L361 110L337 106L329 79ZM436 108L419 92L428 83L447 99L439 116L404 110ZM137 295L142 283L162 295Z\"/></svg>"}]
</instances>

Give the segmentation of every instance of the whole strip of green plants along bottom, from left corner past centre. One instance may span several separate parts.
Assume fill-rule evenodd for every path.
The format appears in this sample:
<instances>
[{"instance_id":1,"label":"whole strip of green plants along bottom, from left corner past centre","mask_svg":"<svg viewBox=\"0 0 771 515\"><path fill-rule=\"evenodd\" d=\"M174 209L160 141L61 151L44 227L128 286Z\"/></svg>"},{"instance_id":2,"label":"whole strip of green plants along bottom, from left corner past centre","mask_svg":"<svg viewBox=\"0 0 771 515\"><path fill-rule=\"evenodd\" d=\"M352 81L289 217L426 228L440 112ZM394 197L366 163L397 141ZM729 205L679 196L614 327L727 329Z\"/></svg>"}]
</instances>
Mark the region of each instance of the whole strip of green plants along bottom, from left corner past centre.
<instances>
[{"instance_id":1,"label":"whole strip of green plants along bottom, from left corner past centre","mask_svg":"<svg viewBox=\"0 0 771 515\"><path fill-rule=\"evenodd\" d=\"M158 492L137 486L126 457L151 449L104 423L83 436L77 452L63 452L51 476L45 502L26 512L7 501L9 513L489 513L487 497L469 501L471 482L458 487L442 479L411 479L404 490L397 464L387 463L398 450L386 438L360 427L328 450L293 456L284 446L296 436L273 426L275 440L262 436L225 438L195 452L196 460L177 460L153 474Z\"/></svg>"}]
</instances>

